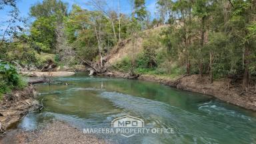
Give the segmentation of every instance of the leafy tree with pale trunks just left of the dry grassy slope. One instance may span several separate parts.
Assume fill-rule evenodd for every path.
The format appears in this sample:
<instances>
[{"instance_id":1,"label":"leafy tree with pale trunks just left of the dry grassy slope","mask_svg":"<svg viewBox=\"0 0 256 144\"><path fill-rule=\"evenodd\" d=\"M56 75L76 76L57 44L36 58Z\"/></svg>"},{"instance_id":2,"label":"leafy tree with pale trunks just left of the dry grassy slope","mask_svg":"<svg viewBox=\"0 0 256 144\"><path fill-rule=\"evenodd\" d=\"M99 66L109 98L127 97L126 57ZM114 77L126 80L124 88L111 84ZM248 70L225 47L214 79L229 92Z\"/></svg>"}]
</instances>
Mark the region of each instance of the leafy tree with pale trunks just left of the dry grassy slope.
<instances>
[{"instance_id":1,"label":"leafy tree with pale trunks just left of the dry grassy slope","mask_svg":"<svg viewBox=\"0 0 256 144\"><path fill-rule=\"evenodd\" d=\"M111 23L101 11L88 11L73 5L66 23L66 32L69 43L79 51L79 56L93 60L98 55L97 61L102 66L105 48L109 46ZM115 44L114 41L111 46Z\"/></svg>"}]
</instances>

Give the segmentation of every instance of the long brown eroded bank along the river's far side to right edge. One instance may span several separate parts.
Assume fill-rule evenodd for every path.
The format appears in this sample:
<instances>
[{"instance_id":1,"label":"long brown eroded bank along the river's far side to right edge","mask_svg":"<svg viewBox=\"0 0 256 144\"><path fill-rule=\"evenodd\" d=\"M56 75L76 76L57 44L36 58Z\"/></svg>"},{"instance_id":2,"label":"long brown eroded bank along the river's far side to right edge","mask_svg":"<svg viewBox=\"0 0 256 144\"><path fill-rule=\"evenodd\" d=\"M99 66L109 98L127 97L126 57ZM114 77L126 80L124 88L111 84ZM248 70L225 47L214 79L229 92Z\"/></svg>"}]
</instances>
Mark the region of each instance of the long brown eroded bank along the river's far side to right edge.
<instances>
[{"instance_id":1,"label":"long brown eroded bank along the river's far side to right edge","mask_svg":"<svg viewBox=\"0 0 256 144\"><path fill-rule=\"evenodd\" d=\"M129 74L125 74L123 72L106 72L104 75L110 77L130 78ZM164 76L140 75L137 79L159 82L160 84L165 84L180 90L211 95L219 100L223 100L241 108L256 111L255 92L243 92L241 86L232 86L225 81L214 81L211 84L207 80L200 80L197 75L182 76L176 79Z\"/></svg>"}]
</instances>

